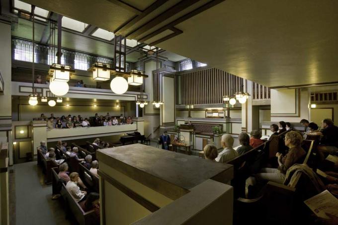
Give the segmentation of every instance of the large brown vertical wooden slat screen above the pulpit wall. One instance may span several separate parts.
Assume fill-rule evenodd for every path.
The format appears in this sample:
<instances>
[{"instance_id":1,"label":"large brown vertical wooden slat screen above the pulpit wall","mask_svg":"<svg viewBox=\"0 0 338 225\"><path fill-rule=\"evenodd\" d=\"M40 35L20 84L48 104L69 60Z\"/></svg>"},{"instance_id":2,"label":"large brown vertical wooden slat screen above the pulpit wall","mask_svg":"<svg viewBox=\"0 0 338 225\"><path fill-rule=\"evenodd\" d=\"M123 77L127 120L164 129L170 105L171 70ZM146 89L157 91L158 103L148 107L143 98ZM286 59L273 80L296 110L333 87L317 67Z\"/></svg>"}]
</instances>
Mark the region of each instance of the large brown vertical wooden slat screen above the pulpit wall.
<instances>
[{"instance_id":1,"label":"large brown vertical wooden slat screen above the pulpit wall","mask_svg":"<svg viewBox=\"0 0 338 225\"><path fill-rule=\"evenodd\" d=\"M215 68L180 74L179 79L182 105L222 104L223 95L241 91L244 83L243 78Z\"/></svg>"}]
</instances>

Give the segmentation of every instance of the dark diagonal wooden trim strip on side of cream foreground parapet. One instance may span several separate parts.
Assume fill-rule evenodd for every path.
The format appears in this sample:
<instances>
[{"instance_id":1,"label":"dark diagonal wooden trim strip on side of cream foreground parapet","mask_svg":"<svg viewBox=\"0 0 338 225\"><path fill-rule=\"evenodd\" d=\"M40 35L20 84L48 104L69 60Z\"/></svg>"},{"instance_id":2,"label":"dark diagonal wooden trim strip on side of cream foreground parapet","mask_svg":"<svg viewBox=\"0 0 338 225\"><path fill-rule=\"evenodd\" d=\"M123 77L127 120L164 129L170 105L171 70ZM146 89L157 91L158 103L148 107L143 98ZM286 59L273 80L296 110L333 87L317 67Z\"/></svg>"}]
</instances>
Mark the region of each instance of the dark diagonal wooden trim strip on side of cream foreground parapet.
<instances>
[{"instance_id":1,"label":"dark diagonal wooden trim strip on side of cream foreground parapet","mask_svg":"<svg viewBox=\"0 0 338 225\"><path fill-rule=\"evenodd\" d=\"M119 191L127 195L129 198L149 210L150 212L154 213L155 211L159 210L160 207L155 205L154 203L150 202L149 200L145 199L141 195L137 194L136 192L130 190L128 187L125 185L121 184L117 180L109 177L107 174L104 172L97 170L97 174L101 176L102 180L108 181L111 185L113 185L115 188L117 188ZM102 185L103 186L103 185ZM102 193L103 194L103 193Z\"/></svg>"}]
</instances>

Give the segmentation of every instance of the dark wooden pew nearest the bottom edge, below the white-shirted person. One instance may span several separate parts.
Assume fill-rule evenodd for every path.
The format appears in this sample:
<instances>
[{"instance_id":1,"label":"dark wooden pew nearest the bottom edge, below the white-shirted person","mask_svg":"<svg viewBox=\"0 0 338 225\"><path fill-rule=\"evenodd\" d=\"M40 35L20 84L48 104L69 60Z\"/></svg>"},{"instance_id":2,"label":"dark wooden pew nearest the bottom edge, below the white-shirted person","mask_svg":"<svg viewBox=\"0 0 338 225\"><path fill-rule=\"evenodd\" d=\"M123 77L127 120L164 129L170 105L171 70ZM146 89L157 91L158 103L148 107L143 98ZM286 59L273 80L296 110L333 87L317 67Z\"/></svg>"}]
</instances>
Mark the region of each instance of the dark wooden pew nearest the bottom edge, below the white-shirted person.
<instances>
[{"instance_id":1,"label":"dark wooden pew nearest the bottom edge, below the white-shirted person","mask_svg":"<svg viewBox=\"0 0 338 225\"><path fill-rule=\"evenodd\" d=\"M66 214L68 214L68 216L73 215L80 225L91 225L91 218L95 214L94 210L84 212L79 203L76 202L72 194L66 189L65 184L62 185L61 196L65 201L65 212Z\"/></svg>"}]
</instances>

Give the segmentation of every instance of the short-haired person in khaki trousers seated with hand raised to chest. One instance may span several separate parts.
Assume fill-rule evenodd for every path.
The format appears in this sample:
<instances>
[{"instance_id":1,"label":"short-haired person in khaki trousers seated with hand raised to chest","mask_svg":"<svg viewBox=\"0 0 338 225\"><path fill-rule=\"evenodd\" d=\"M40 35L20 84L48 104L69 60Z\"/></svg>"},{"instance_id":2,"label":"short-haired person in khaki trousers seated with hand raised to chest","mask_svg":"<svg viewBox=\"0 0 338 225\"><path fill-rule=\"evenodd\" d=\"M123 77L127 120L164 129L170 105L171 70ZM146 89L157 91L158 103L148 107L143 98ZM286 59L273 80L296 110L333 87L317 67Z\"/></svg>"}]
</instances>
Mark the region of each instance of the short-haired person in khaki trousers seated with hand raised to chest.
<instances>
[{"instance_id":1,"label":"short-haired person in khaki trousers seated with hand raised to chest","mask_svg":"<svg viewBox=\"0 0 338 225\"><path fill-rule=\"evenodd\" d=\"M260 173L254 176L255 179L257 181L266 180L282 184L286 170L295 163L302 163L299 160L306 155L306 151L301 147L302 141L303 137L299 132L290 131L286 133L284 142L285 146L289 147L289 151L285 156L279 152L276 153L278 168L262 168Z\"/></svg>"}]
</instances>

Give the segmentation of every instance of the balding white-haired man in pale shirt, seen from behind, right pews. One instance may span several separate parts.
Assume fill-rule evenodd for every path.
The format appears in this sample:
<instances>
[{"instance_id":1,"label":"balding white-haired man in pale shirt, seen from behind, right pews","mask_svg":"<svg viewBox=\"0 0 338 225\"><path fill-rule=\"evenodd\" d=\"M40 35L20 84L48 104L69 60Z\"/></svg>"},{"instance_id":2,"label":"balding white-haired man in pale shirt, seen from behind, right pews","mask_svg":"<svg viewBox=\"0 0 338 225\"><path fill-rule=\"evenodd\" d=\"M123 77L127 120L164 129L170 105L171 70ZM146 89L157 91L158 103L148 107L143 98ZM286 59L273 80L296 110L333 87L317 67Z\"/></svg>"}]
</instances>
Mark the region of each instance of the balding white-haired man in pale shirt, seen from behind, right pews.
<instances>
[{"instance_id":1,"label":"balding white-haired man in pale shirt, seen from behind, right pews","mask_svg":"<svg viewBox=\"0 0 338 225\"><path fill-rule=\"evenodd\" d=\"M221 151L215 159L217 162L227 162L238 156L238 152L233 149L234 138L231 135L223 135L221 138L221 145L224 150Z\"/></svg>"}]
</instances>

